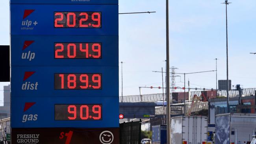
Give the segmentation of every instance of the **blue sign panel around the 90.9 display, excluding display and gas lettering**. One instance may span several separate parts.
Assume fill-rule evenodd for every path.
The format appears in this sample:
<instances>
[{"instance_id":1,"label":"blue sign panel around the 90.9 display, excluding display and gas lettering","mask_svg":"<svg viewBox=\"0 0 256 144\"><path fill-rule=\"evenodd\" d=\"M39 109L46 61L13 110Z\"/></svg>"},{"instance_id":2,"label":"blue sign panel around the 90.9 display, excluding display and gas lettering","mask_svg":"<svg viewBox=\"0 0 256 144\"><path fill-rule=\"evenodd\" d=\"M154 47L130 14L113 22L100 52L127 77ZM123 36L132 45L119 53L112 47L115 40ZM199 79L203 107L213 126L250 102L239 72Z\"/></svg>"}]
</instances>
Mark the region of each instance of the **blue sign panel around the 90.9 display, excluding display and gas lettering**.
<instances>
[{"instance_id":1,"label":"blue sign panel around the 90.9 display, excluding display and gas lettering","mask_svg":"<svg viewBox=\"0 0 256 144\"><path fill-rule=\"evenodd\" d=\"M119 127L118 97L12 97L11 127ZM26 102L35 102L24 109ZM54 120L55 104L102 104L102 120ZM25 111L26 110L26 111ZM24 114L37 114L37 119L28 120ZM23 116L25 117L23 120ZM23 121L23 122L22 122Z\"/></svg>"}]
</instances>

